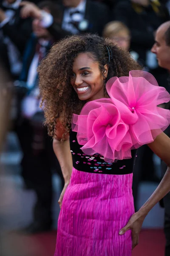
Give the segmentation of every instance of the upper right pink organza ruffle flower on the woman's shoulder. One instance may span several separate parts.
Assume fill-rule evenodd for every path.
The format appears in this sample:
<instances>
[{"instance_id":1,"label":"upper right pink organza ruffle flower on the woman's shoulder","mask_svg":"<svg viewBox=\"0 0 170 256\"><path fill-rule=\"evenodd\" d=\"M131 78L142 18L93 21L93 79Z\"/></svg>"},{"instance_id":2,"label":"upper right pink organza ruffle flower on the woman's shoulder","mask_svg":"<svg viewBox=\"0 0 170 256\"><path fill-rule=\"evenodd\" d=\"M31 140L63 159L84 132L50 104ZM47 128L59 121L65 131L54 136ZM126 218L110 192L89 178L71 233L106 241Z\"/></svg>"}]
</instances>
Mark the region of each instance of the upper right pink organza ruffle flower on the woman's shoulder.
<instances>
[{"instance_id":1,"label":"upper right pink organza ruffle flower on the woman's shoulder","mask_svg":"<svg viewBox=\"0 0 170 256\"><path fill-rule=\"evenodd\" d=\"M129 125L132 148L153 142L170 123L170 111L158 107L170 94L148 72L132 70L127 77L113 77L106 89L122 120Z\"/></svg>"}]
</instances>

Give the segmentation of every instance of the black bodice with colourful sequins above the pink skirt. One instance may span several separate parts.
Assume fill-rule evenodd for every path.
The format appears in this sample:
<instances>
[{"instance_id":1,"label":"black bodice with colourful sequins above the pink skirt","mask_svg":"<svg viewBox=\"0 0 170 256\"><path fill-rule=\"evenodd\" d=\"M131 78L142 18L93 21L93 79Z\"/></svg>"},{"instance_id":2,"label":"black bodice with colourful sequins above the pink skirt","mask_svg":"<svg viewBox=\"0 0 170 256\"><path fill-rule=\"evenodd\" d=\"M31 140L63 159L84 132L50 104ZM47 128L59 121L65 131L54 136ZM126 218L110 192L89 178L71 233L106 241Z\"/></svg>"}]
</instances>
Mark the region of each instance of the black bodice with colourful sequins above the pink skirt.
<instances>
[{"instance_id":1,"label":"black bodice with colourful sequins above the pink skirt","mask_svg":"<svg viewBox=\"0 0 170 256\"><path fill-rule=\"evenodd\" d=\"M81 145L77 142L77 133L70 132L70 148L73 157L73 166L78 171L99 174L123 175L133 172L137 150L132 150L132 158L115 160L113 163L106 163L102 155L94 154L88 156L81 150Z\"/></svg>"}]
</instances>

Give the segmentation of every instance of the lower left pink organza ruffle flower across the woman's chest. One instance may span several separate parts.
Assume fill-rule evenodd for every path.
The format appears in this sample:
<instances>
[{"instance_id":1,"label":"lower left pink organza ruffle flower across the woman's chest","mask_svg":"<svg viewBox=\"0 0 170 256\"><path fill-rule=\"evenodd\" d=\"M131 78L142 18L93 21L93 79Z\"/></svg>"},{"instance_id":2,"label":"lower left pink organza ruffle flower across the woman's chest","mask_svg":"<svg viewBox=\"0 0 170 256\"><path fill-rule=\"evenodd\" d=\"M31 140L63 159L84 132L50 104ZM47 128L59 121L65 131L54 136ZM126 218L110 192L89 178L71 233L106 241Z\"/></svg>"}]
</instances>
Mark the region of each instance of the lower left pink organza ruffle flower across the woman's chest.
<instances>
[{"instance_id":1,"label":"lower left pink organza ruffle flower across the woman's chest","mask_svg":"<svg viewBox=\"0 0 170 256\"><path fill-rule=\"evenodd\" d=\"M80 115L73 115L72 130L77 132L78 143L87 155L101 154L109 163L131 157L128 125L111 99L86 103Z\"/></svg>"}]
</instances>

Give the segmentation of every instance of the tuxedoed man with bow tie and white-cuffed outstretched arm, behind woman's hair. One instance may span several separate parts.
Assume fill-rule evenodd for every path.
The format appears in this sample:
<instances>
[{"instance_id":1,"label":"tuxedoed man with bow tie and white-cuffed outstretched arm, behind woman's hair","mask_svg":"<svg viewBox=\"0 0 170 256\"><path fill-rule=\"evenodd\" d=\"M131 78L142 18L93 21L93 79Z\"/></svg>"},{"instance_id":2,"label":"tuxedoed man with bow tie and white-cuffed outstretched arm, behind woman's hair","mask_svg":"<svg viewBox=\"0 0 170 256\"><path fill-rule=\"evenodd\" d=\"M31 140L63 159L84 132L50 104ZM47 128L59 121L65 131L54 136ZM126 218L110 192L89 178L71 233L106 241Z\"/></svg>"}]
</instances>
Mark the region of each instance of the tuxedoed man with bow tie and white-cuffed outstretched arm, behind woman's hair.
<instances>
[{"instance_id":1,"label":"tuxedoed man with bow tie and white-cuffed outstretched arm, behind woman's hair","mask_svg":"<svg viewBox=\"0 0 170 256\"><path fill-rule=\"evenodd\" d=\"M25 3L28 2L24 1L23 5ZM67 31L69 35L86 32L102 35L105 24L110 21L111 15L108 7L102 3L86 0L62 0L59 1L59 4L61 7L61 26L54 20L52 14L40 12L34 4L24 9L22 17L36 15L54 38L62 31Z\"/></svg>"}]
</instances>

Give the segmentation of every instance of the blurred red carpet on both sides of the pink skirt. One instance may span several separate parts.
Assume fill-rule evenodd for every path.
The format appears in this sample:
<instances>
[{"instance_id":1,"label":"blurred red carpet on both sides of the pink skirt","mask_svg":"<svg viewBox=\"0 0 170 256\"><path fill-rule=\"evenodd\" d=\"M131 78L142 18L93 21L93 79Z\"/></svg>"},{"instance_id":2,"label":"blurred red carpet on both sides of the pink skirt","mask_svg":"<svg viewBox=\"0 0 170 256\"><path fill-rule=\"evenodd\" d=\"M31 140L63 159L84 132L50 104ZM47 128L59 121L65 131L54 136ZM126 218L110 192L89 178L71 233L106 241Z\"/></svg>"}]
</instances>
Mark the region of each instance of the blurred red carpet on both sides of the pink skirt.
<instances>
[{"instance_id":1,"label":"blurred red carpet on both sides of the pink skirt","mask_svg":"<svg viewBox=\"0 0 170 256\"><path fill-rule=\"evenodd\" d=\"M2 256L53 256L56 235L56 231L34 236L19 236L16 233L10 233L4 241L7 243L7 250ZM132 256L164 256L164 245L163 230L142 230L139 245L133 250Z\"/></svg>"}]
</instances>

